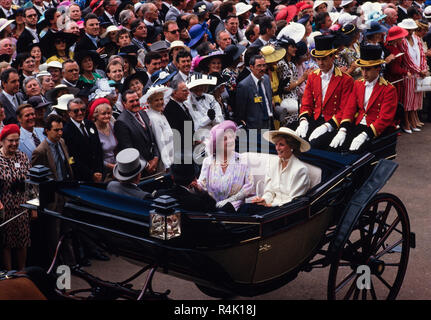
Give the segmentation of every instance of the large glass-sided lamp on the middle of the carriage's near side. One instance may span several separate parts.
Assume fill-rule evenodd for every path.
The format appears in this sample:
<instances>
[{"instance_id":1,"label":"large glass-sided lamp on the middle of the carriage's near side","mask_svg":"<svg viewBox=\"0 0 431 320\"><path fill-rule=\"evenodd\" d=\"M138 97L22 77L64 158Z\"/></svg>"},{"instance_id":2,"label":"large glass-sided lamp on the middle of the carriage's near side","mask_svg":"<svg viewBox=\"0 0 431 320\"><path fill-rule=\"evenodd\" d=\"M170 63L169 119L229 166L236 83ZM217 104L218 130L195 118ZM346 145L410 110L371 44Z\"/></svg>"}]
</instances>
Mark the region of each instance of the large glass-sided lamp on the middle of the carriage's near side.
<instances>
[{"instance_id":1,"label":"large glass-sided lamp on the middle of the carriage's near side","mask_svg":"<svg viewBox=\"0 0 431 320\"><path fill-rule=\"evenodd\" d=\"M181 213L175 208L176 200L161 196L154 200L150 211L150 236L161 240L170 240L181 235Z\"/></svg>"}]
</instances>

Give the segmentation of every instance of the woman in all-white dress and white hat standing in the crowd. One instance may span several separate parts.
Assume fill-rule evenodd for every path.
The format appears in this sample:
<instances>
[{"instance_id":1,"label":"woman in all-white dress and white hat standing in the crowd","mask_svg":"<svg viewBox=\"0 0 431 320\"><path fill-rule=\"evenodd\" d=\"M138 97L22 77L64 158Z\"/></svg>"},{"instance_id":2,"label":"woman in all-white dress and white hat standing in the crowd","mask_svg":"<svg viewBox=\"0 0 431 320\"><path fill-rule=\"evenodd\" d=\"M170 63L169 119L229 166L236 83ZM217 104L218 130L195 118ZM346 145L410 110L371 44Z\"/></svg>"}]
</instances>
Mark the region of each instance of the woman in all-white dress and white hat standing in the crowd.
<instances>
[{"instance_id":1,"label":"woman in all-white dress and white hat standing in the crowd","mask_svg":"<svg viewBox=\"0 0 431 320\"><path fill-rule=\"evenodd\" d=\"M149 108L146 110L151 120L154 137L164 169L167 170L174 162L174 134L168 120L163 114L166 101L171 96L172 89L164 86L150 87L143 100L147 101Z\"/></svg>"}]
</instances>

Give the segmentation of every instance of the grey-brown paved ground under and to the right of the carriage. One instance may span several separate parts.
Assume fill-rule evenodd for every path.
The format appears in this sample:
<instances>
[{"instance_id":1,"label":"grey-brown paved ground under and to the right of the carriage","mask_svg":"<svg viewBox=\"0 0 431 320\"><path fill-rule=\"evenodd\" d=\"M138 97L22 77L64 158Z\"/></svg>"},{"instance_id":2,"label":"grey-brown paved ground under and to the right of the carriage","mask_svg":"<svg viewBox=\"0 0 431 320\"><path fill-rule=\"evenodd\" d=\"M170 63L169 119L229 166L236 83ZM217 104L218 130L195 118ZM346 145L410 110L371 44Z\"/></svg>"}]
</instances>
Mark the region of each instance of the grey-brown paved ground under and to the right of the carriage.
<instances>
[{"instance_id":1,"label":"grey-brown paved ground under and to the right of the carriage","mask_svg":"<svg viewBox=\"0 0 431 320\"><path fill-rule=\"evenodd\" d=\"M400 166L383 191L397 195L404 202L417 241L416 249L411 250L407 274L398 299L430 299L431 250L428 246L431 243L431 124L428 123L420 133L403 134L399 137L397 149L396 162ZM138 271L139 267L112 256L109 262L94 260L93 265L86 270L103 279L120 281ZM328 272L329 268L301 273L298 278L279 290L254 299L326 299ZM144 277L141 277L133 283L139 288L144 280ZM80 279L73 279L74 288L80 288L82 285ZM170 297L173 299L211 299L201 293L193 283L160 273L156 274L153 287L157 291L170 289Z\"/></svg>"}]
</instances>

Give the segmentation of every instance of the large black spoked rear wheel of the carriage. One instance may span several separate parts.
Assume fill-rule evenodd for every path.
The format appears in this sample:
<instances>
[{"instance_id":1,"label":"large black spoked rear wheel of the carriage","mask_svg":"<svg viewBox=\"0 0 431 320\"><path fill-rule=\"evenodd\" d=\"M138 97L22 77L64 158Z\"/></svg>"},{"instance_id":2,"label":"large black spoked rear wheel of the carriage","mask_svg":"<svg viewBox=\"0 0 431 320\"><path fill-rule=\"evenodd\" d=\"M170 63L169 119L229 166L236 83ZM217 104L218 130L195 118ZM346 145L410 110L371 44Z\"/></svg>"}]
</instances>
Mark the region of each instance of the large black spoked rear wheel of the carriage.
<instances>
[{"instance_id":1,"label":"large black spoked rear wheel of the carriage","mask_svg":"<svg viewBox=\"0 0 431 320\"><path fill-rule=\"evenodd\" d=\"M376 195L335 255L329 270L328 299L395 299L407 269L409 251L406 208L394 195Z\"/></svg>"}]
</instances>

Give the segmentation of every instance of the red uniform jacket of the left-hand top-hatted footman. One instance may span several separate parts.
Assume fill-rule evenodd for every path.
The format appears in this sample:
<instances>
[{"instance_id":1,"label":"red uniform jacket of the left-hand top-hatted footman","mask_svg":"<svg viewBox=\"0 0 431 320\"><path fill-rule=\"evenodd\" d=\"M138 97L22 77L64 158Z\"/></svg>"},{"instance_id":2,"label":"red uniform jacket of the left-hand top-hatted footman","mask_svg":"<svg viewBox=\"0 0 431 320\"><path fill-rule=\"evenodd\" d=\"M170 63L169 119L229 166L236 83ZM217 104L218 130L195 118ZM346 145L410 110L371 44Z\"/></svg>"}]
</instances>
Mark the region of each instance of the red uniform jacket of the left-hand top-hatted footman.
<instances>
[{"instance_id":1,"label":"red uniform jacket of the left-hand top-hatted footman","mask_svg":"<svg viewBox=\"0 0 431 320\"><path fill-rule=\"evenodd\" d=\"M337 127L343 116L343 107L347 104L354 80L351 76L334 68L334 75L326 90L325 101L322 101L321 70L317 69L308 76L307 85L302 97L302 105L299 117L308 116L317 120L320 114L326 122L331 119Z\"/></svg>"}]
</instances>

